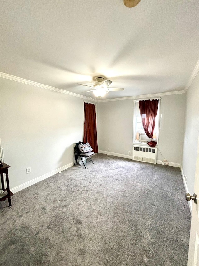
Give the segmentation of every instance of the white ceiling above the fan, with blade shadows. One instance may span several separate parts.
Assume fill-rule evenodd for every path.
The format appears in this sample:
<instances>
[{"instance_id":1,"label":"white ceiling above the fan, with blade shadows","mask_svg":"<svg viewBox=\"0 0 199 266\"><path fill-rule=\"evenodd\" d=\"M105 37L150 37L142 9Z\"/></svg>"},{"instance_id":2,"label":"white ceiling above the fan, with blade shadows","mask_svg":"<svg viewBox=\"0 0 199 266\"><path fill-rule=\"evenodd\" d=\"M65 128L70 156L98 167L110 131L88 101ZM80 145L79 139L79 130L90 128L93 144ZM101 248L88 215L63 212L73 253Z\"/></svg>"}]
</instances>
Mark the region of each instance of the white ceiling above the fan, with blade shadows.
<instances>
[{"instance_id":1,"label":"white ceiling above the fan, with blade shadows","mask_svg":"<svg viewBox=\"0 0 199 266\"><path fill-rule=\"evenodd\" d=\"M1 1L3 73L81 95L100 74L113 99L183 90L198 59L199 1Z\"/></svg>"}]
</instances>

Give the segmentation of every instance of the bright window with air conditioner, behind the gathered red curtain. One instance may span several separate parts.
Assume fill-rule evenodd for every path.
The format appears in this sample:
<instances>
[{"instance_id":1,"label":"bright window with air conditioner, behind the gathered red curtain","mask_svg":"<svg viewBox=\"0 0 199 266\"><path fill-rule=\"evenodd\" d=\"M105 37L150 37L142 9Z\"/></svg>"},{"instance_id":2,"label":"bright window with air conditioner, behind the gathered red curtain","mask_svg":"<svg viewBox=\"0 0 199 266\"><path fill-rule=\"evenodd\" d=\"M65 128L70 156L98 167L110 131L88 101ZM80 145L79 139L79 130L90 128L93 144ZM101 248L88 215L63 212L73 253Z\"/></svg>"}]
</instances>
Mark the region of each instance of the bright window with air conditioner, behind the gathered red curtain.
<instances>
[{"instance_id":1,"label":"bright window with air conditioner, behind the gathered red curtain","mask_svg":"<svg viewBox=\"0 0 199 266\"><path fill-rule=\"evenodd\" d=\"M153 131L153 138L156 138L158 141L158 132L159 132L159 111L160 111L160 99L158 103L157 116L155 118L155 128ZM139 100L134 101L134 131L133 131L133 142L147 143L150 139L144 132L142 126L142 118L140 115L139 109Z\"/></svg>"}]
</instances>

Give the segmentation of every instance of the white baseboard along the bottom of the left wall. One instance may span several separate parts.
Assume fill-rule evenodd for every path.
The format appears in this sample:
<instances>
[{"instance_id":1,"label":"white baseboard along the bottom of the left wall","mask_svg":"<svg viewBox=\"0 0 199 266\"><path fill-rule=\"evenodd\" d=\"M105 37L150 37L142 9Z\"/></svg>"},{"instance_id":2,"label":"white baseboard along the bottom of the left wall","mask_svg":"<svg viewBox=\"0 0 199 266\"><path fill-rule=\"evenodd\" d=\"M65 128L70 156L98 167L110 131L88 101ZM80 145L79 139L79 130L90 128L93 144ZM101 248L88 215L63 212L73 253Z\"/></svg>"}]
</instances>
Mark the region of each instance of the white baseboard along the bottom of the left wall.
<instances>
[{"instance_id":1,"label":"white baseboard along the bottom of the left wall","mask_svg":"<svg viewBox=\"0 0 199 266\"><path fill-rule=\"evenodd\" d=\"M67 165L64 165L64 166L62 166L62 167L60 167L60 168L58 168L56 170L53 170L53 171L51 171L51 172L49 172L47 174L44 174L44 175L42 175L40 177L36 177L35 179L32 179L32 180L30 180L28 182L25 182L25 183L23 183L23 184L21 184L19 186L13 187L13 188L10 189L10 191L12 191L12 193L16 193L16 192L18 192L18 191L20 191L20 190L22 190L22 189L24 189L26 187L34 185L37 182L42 181L42 180L44 180L44 179L46 179L48 177L51 177L51 176L57 174L58 172L61 172L61 171L65 170L65 169L67 169L68 167L72 167L72 166L73 166L73 162L71 162L71 163L69 163Z\"/></svg>"}]
</instances>

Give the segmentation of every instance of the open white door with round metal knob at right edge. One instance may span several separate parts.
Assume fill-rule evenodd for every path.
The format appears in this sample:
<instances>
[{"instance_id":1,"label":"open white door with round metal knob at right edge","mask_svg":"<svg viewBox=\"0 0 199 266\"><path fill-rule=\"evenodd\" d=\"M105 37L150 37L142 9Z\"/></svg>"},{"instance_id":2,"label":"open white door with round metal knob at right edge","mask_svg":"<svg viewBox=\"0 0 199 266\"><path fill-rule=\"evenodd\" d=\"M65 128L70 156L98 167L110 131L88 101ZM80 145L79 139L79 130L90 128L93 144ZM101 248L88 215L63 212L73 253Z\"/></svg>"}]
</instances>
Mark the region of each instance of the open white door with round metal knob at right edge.
<instances>
[{"instance_id":1,"label":"open white door with round metal knob at right edge","mask_svg":"<svg viewBox=\"0 0 199 266\"><path fill-rule=\"evenodd\" d=\"M197 148L194 193L199 197L199 137ZM197 204L192 201L192 221L189 239L188 266L199 266L199 198Z\"/></svg>"}]
</instances>

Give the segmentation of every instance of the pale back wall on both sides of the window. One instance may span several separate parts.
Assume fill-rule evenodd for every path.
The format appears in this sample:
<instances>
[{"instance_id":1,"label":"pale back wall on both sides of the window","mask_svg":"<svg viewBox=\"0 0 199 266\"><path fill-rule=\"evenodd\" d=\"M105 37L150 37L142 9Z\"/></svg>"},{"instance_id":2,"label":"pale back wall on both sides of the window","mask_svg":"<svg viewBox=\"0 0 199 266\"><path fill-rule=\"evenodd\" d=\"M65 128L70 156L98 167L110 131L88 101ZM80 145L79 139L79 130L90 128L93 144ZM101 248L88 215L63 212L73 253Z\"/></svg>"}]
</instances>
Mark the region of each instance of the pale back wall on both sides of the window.
<instances>
[{"instance_id":1,"label":"pale back wall on both sides of the window","mask_svg":"<svg viewBox=\"0 0 199 266\"><path fill-rule=\"evenodd\" d=\"M159 144L168 162L180 164L183 147L184 94L162 96L160 104ZM142 97L144 99L144 97ZM133 140L133 100L119 100L98 104L99 150L128 155ZM163 160L160 152L158 160Z\"/></svg>"}]
</instances>

